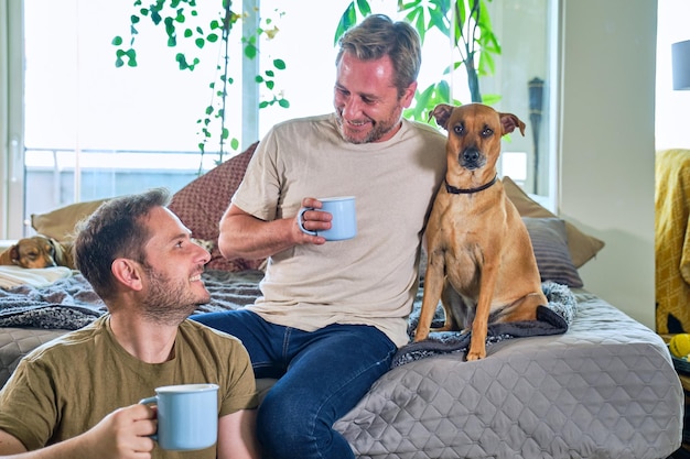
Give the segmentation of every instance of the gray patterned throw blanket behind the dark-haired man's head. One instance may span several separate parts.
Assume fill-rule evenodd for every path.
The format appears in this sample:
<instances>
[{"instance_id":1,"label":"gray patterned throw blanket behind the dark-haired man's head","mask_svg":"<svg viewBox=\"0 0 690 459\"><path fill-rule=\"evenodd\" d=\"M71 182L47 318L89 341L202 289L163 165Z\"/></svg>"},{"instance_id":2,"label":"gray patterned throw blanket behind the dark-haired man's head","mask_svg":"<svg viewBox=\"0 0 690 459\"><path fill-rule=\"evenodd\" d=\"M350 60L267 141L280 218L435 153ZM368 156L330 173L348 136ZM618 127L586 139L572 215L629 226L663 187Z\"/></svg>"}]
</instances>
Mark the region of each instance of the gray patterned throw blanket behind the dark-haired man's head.
<instances>
[{"instance_id":1,"label":"gray patterned throw blanket behind the dark-haired man's head","mask_svg":"<svg viewBox=\"0 0 690 459\"><path fill-rule=\"evenodd\" d=\"M197 306L194 314L237 309L260 295L260 271L203 274L211 303ZM44 287L20 285L0 288L0 327L36 327L76 330L106 313L106 306L82 276L61 278Z\"/></svg>"}]
</instances>

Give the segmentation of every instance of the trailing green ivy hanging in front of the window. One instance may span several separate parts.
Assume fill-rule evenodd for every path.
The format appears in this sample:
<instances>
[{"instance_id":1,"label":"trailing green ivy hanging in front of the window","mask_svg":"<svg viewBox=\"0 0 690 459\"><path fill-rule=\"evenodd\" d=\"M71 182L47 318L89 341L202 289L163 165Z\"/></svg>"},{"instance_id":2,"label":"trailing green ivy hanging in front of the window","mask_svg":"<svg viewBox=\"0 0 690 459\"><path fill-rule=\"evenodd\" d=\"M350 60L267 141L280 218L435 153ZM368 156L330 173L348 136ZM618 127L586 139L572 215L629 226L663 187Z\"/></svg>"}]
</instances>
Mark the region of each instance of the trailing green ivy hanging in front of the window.
<instances>
[{"instance_id":1,"label":"trailing green ivy hanging in front of the window","mask_svg":"<svg viewBox=\"0 0 690 459\"><path fill-rule=\"evenodd\" d=\"M144 6L141 0L136 0L133 2L136 12L130 15L129 41L125 44L125 40L118 35L112 39L112 45L116 46L116 67L137 67L136 40L142 20L148 19L154 26L163 29L169 47L177 47L181 42L192 43L193 46L191 47L197 50L207 45L218 44L222 46L220 62L216 64L217 77L215 81L209 84L211 102L204 109L204 116L196 121L200 125L201 141L197 146L202 153L202 162L208 142L216 135L219 153L218 163L222 163L228 143L235 151L239 147L239 141L237 138L230 138L231 133L226 127L226 107L228 85L234 83L234 78L228 72L231 57L229 37L233 28L242 20L244 14L233 10L231 0L219 0L219 3L217 14L208 21L200 18L196 0L155 0L148 6ZM255 34L241 39L245 56L251 59L258 57L257 42L259 37L265 35L272 39L278 32L278 29L271 26L271 23L272 20L267 19L265 28L259 28ZM175 62L180 70L190 72L193 72L201 64L200 57L182 51L175 54ZM270 100L261 101L259 108L276 103L283 108L290 107L290 102L274 90L277 73L284 69L284 61L277 58L272 61L272 68L265 70L262 75L256 75L255 81L263 85L271 95ZM215 134L212 128L214 120L219 121L219 132Z\"/></svg>"}]
</instances>

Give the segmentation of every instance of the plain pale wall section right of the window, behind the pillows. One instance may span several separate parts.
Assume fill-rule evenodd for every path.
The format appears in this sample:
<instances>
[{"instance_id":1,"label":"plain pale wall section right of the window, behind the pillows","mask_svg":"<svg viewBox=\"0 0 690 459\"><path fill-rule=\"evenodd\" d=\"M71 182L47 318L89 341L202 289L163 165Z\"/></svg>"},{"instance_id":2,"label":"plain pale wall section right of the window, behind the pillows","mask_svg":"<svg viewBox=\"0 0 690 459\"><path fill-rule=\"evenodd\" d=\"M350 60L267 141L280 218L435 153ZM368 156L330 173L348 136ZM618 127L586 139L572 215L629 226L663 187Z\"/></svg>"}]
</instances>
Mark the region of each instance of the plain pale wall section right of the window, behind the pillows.
<instances>
[{"instance_id":1,"label":"plain pale wall section right of the window, behind the pillows","mask_svg":"<svg viewBox=\"0 0 690 459\"><path fill-rule=\"evenodd\" d=\"M654 329L657 1L562 6L559 215L606 242L585 287Z\"/></svg>"}]
</instances>

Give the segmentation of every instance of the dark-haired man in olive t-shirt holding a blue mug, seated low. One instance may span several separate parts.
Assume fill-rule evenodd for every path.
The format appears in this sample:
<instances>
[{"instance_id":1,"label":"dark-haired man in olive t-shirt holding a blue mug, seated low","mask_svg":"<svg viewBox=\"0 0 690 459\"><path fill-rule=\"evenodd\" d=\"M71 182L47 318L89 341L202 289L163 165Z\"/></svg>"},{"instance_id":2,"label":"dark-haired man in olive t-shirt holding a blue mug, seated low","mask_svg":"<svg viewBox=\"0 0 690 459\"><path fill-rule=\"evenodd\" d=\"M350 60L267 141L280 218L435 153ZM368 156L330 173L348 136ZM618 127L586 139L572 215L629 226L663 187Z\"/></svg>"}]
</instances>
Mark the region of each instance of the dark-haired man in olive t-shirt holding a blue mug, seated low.
<instances>
[{"instance_id":1,"label":"dark-haired man in olive t-shirt holding a blue mug, seated low","mask_svg":"<svg viewBox=\"0 0 690 459\"><path fill-rule=\"evenodd\" d=\"M115 198L80 225L75 262L108 314L21 361L0 391L0 456L259 457L247 351L187 319L209 300L201 277L209 254L168 203L163 189ZM137 402L186 383L219 385L217 445L163 451L150 437L155 411Z\"/></svg>"}]
</instances>

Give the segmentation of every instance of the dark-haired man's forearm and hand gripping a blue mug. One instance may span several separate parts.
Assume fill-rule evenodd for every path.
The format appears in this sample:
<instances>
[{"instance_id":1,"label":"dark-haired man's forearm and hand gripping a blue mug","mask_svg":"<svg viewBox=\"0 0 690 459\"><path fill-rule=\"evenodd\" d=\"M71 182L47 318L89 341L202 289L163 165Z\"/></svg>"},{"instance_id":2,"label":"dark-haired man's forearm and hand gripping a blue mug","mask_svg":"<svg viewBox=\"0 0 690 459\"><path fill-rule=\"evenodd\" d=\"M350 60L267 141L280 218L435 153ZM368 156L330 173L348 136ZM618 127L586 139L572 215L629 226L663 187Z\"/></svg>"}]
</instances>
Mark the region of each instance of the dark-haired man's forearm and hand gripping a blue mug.
<instances>
[{"instance_id":1,"label":"dark-haired man's forearm and hand gripping a blue mug","mask_svg":"<svg viewBox=\"0 0 690 459\"><path fill-rule=\"evenodd\" d=\"M34 451L13 435L0 430L0 458L4 459L149 459L154 442L155 414L145 405L116 409L90 430Z\"/></svg>"}]
</instances>

